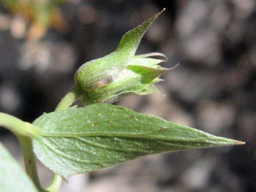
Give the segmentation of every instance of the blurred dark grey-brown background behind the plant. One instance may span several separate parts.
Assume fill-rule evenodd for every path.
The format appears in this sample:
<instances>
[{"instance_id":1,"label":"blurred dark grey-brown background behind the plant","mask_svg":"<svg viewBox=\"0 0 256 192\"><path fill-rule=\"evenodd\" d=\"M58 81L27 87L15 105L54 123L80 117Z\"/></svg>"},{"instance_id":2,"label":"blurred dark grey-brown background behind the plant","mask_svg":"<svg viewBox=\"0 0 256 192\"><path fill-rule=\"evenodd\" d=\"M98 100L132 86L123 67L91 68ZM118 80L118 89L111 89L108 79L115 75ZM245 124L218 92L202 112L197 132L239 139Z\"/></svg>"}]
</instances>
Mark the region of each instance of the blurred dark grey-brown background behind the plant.
<instances>
[{"instance_id":1,"label":"blurred dark grey-brown background behind the plant","mask_svg":"<svg viewBox=\"0 0 256 192\"><path fill-rule=\"evenodd\" d=\"M255 1L0 2L1 112L29 122L52 112L80 65L114 51L125 32L166 8L137 51L166 54L167 67L180 63L158 84L166 96L131 96L117 104L246 141L72 176L60 191L256 191ZM1 128L0 140L22 164L14 135ZM39 172L47 187L51 171L39 164Z\"/></svg>"}]
</instances>

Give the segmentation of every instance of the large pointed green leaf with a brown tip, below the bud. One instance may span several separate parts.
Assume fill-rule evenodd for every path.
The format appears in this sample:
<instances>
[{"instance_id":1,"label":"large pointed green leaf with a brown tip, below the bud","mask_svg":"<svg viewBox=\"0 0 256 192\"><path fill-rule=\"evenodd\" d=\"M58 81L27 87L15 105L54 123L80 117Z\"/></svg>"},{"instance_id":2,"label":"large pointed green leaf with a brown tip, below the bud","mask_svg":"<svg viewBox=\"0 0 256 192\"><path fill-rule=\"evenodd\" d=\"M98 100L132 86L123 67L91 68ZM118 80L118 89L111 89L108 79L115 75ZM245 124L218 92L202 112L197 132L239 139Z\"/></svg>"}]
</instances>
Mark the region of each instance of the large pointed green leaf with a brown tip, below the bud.
<instances>
[{"instance_id":1,"label":"large pointed green leaf with a brown tip, below the bud","mask_svg":"<svg viewBox=\"0 0 256 192\"><path fill-rule=\"evenodd\" d=\"M241 144L110 104L43 114L33 124L36 156L65 178L147 154Z\"/></svg>"}]
</instances>

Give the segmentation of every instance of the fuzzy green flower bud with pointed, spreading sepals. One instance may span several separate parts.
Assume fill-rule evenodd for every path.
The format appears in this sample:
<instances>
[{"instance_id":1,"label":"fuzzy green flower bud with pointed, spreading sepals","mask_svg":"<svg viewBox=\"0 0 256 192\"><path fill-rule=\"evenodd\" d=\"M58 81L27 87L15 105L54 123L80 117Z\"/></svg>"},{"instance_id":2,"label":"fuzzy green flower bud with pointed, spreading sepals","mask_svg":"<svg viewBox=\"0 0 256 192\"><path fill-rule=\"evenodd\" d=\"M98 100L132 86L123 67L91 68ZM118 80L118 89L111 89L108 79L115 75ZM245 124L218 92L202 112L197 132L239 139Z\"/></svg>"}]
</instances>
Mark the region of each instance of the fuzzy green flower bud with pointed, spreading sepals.
<instances>
[{"instance_id":1,"label":"fuzzy green flower bud with pointed, spreading sepals","mask_svg":"<svg viewBox=\"0 0 256 192\"><path fill-rule=\"evenodd\" d=\"M154 84L170 70L158 65L166 61L166 56L161 53L135 55L135 52L146 30L163 11L127 32L114 52L89 61L76 71L75 92L84 103L113 103L127 95L157 91ZM164 60L149 58L152 56Z\"/></svg>"}]
</instances>

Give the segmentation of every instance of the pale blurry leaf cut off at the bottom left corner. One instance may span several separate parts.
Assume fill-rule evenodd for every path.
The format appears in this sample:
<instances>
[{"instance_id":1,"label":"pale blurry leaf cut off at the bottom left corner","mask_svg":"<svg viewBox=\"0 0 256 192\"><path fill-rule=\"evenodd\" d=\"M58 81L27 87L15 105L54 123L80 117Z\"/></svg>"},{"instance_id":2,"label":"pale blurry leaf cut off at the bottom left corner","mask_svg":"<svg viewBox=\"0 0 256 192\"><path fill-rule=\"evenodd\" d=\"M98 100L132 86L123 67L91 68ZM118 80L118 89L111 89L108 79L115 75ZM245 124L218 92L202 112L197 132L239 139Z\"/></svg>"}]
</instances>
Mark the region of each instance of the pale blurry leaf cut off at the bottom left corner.
<instances>
[{"instance_id":1,"label":"pale blurry leaf cut off at the bottom left corner","mask_svg":"<svg viewBox=\"0 0 256 192\"><path fill-rule=\"evenodd\" d=\"M0 143L0 191L38 192L31 179L21 169L19 163Z\"/></svg>"}]
</instances>

